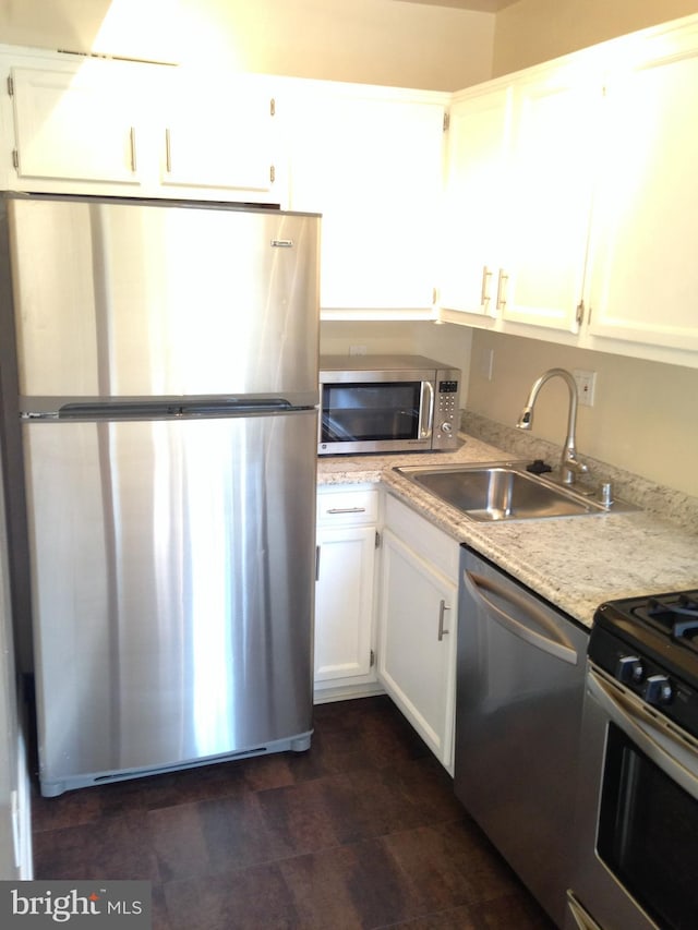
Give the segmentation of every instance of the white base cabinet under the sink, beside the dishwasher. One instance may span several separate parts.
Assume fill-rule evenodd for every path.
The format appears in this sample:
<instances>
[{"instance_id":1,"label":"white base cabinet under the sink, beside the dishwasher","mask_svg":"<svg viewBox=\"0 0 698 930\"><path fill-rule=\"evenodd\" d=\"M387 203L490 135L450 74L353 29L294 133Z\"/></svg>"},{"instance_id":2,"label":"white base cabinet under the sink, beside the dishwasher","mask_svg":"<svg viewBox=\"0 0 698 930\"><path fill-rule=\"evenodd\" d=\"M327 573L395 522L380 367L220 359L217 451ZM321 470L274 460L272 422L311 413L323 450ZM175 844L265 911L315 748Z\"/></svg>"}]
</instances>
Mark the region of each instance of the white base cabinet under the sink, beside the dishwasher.
<instances>
[{"instance_id":1,"label":"white base cabinet under the sink, beside the dishwasher","mask_svg":"<svg viewBox=\"0 0 698 930\"><path fill-rule=\"evenodd\" d=\"M453 774L459 546L388 495L378 680Z\"/></svg>"}]
</instances>

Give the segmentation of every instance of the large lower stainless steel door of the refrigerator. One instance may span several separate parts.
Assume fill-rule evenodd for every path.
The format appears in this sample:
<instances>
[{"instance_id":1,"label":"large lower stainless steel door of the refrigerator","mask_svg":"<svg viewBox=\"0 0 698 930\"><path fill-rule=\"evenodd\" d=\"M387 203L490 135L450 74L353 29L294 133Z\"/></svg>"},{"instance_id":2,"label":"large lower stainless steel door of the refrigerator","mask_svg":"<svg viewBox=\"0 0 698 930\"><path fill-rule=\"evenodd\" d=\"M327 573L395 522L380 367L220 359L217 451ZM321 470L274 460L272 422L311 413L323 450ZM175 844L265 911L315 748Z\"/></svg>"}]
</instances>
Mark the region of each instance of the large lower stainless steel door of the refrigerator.
<instances>
[{"instance_id":1,"label":"large lower stainless steel door of the refrigerator","mask_svg":"<svg viewBox=\"0 0 698 930\"><path fill-rule=\"evenodd\" d=\"M23 431L44 794L308 734L316 412Z\"/></svg>"}]
</instances>

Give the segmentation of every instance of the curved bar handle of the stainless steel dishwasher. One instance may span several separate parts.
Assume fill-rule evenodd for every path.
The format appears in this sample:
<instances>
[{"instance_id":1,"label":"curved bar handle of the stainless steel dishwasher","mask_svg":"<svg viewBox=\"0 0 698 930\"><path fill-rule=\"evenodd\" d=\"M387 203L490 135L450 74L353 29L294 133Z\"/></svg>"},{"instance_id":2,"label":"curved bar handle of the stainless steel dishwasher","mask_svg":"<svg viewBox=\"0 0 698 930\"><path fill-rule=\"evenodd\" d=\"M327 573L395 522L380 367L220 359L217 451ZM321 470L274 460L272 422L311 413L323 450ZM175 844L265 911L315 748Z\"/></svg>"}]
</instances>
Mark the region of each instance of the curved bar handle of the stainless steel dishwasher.
<instances>
[{"instance_id":1,"label":"curved bar handle of the stainless steel dishwasher","mask_svg":"<svg viewBox=\"0 0 698 930\"><path fill-rule=\"evenodd\" d=\"M557 629L555 624L529 597L525 597L516 591L507 590L495 581L482 575L477 575L474 571L464 571L464 581L476 602L483 606L492 619L504 627L504 629L528 642L529 645L540 649L541 652L559 659L562 662L567 662L569 665L577 665L579 662L577 650L564 633ZM546 636L527 627L526 624L507 614L491 601L484 592L496 594L497 597L508 601L512 606L521 612L532 624L542 627Z\"/></svg>"}]
</instances>

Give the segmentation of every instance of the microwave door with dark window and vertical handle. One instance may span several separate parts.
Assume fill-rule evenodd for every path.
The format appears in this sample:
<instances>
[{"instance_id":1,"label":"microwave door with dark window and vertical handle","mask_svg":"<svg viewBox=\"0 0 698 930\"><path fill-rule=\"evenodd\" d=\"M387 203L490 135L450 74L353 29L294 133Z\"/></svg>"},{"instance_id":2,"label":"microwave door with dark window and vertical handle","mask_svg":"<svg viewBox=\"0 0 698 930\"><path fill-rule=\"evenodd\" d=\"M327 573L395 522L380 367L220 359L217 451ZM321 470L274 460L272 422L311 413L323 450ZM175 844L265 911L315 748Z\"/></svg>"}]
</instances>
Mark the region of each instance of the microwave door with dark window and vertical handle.
<instances>
[{"instance_id":1,"label":"microwave door with dark window and vertical handle","mask_svg":"<svg viewBox=\"0 0 698 930\"><path fill-rule=\"evenodd\" d=\"M431 449L434 381L423 372L332 373L321 383L320 455Z\"/></svg>"}]
</instances>

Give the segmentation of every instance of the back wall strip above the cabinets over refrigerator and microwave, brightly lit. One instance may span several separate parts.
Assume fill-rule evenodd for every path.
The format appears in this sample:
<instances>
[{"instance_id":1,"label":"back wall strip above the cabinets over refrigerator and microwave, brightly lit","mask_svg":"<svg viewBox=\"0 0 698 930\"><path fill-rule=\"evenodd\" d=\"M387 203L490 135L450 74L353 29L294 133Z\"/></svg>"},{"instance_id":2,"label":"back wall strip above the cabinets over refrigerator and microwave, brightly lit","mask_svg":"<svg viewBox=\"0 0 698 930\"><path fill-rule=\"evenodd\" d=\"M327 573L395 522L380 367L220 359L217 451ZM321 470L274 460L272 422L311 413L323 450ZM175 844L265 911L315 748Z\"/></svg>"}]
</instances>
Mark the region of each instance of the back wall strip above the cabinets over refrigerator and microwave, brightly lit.
<instances>
[{"instance_id":1,"label":"back wall strip above the cabinets over refrigerator and microwave, brightly lit","mask_svg":"<svg viewBox=\"0 0 698 930\"><path fill-rule=\"evenodd\" d=\"M486 80L495 16L400 0L0 0L0 41L449 90Z\"/></svg>"}]
</instances>

